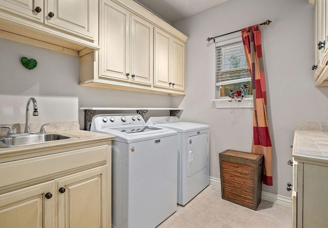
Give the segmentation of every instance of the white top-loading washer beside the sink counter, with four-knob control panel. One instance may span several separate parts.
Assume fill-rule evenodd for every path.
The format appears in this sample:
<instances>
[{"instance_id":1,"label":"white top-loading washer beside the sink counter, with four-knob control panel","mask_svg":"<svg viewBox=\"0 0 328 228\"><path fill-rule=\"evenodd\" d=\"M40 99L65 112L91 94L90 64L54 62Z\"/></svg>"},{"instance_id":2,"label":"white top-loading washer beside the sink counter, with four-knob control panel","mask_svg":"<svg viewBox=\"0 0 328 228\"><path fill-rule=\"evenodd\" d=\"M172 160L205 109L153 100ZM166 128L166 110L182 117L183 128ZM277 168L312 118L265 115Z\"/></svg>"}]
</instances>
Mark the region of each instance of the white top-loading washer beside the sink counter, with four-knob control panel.
<instances>
[{"instance_id":1,"label":"white top-loading washer beside the sink counter, with four-knob control panel","mask_svg":"<svg viewBox=\"0 0 328 228\"><path fill-rule=\"evenodd\" d=\"M177 210L177 133L140 115L101 114L90 131L112 134L112 227L154 228Z\"/></svg>"}]
</instances>

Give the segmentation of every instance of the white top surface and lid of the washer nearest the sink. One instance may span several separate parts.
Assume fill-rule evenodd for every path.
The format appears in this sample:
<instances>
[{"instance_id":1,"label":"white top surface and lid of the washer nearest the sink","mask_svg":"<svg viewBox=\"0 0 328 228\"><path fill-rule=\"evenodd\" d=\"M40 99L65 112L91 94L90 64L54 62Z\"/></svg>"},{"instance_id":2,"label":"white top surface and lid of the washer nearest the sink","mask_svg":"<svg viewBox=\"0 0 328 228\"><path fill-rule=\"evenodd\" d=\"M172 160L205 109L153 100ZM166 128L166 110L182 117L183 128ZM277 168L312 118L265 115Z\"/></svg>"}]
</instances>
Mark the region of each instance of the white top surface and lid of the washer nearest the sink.
<instances>
[{"instance_id":1,"label":"white top surface and lid of the washer nearest the sink","mask_svg":"<svg viewBox=\"0 0 328 228\"><path fill-rule=\"evenodd\" d=\"M171 129L158 128L154 126L133 126L113 129L100 129L96 132L114 135L114 141L133 143L176 135L177 132ZM160 140L160 139L159 139Z\"/></svg>"}]
</instances>

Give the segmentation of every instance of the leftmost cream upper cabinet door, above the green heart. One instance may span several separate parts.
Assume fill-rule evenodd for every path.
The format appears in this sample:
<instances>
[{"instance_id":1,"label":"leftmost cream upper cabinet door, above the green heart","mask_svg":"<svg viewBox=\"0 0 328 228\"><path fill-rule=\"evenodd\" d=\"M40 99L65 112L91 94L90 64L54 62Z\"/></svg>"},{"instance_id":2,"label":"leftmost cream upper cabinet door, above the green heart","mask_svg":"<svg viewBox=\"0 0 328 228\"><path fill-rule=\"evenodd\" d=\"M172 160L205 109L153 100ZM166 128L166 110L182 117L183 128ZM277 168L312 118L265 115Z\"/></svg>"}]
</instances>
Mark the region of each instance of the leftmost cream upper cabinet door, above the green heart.
<instances>
[{"instance_id":1,"label":"leftmost cream upper cabinet door, above the green heart","mask_svg":"<svg viewBox=\"0 0 328 228\"><path fill-rule=\"evenodd\" d=\"M42 11L36 12L36 7ZM0 9L43 23L43 0L0 0Z\"/></svg>"}]
</instances>

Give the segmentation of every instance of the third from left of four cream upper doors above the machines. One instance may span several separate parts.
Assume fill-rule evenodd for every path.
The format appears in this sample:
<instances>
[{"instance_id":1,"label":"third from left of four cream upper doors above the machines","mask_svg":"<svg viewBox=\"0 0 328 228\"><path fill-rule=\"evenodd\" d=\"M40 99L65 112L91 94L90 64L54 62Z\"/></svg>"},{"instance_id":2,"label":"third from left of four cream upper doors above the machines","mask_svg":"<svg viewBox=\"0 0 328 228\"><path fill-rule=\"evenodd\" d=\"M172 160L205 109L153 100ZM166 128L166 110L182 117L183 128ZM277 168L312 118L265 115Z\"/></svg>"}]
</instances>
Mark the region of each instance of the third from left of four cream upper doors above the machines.
<instances>
[{"instance_id":1,"label":"third from left of four cream upper doors above the machines","mask_svg":"<svg viewBox=\"0 0 328 228\"><path fill-rule=\"evenodd\" d=\"M171 35L155 28L155 81L154 86L170 88L171 81ZM170 84L171 83L171 84Z\"/></svg>"}]
</instances>

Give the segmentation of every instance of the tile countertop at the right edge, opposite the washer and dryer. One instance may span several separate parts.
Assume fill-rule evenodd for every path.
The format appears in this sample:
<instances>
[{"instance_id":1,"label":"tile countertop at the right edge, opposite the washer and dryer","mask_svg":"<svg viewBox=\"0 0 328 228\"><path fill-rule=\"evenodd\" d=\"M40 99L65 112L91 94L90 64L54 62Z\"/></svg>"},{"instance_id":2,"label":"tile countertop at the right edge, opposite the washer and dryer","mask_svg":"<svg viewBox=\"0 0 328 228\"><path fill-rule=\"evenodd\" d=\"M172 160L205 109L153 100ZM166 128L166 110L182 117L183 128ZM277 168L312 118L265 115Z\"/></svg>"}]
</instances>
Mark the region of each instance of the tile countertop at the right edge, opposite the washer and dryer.
<instances>
[{"instance_id":1,"label":"tile countertop at the right edge, opposite the washer and dryer","mask_svg":"<svg viewBox=\"0 0 328 228\"><path fill-rule=\"evenodd\" d=\"M322 152L320 147L327 148L326 152ZM293 157L299 162L328 165L328 132L296 129Z\"/></svg>"}]
</instances>

